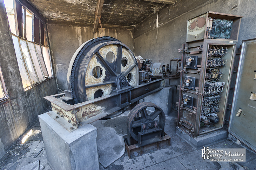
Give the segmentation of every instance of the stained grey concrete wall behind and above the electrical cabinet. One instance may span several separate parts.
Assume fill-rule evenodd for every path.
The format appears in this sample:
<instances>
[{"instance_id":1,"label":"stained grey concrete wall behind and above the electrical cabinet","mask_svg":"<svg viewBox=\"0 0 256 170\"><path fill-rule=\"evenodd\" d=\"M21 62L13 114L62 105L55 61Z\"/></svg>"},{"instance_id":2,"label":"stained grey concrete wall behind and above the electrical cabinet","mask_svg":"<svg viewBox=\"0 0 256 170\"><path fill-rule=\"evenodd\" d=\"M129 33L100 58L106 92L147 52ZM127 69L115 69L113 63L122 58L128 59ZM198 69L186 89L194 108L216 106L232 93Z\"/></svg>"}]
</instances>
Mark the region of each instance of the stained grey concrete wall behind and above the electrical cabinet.
<instances>
[{"instance_id":1,"label":"stained grey concrete wall behind and above the electrical cabinet","mask_svg":"<svg viewBox=\"0 0 256 170\"><path fill-rule=\"evenodd\" d=\"M187 20L208 11L242 15L238 46L242 40L256 38L255 0L176 0L147 17L134 28L135 56L167 62L181 58L178 49L186 43ZM179 79L171 80L179 84ZM176 93L173 93L176 94ZM177 102L174 96L173 102Z\"/></svg>"}]
</instances>

